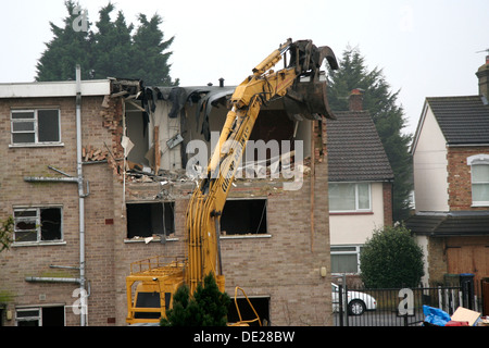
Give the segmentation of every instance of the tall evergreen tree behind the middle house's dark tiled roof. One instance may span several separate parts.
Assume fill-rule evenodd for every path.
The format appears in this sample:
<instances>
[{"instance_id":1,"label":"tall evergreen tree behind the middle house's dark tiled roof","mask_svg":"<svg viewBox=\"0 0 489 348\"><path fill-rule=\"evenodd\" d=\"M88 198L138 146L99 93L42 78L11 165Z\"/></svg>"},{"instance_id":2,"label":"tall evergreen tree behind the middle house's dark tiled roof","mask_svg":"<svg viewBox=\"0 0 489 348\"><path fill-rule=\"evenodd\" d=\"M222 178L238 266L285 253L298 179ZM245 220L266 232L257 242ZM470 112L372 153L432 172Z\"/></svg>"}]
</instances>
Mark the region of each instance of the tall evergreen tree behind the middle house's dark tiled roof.
<instances>
[{"instance_id":1,"label":"tall evergreen tree behind the middle house's dark tiled roof","mask_svg":"<svg viewBox=\"0 0 489 348\"><path fill-rule=\"evenodd\" d=\"M394 174L392 215L394 221L409 217L409 196L412 189L412 160L409 153L411 135L402 134L405 127L404 111L397 104L399 91L392 92L383 71L368 71L365 60L356 49L347 48L339 60L339 70L329 70L328 101L333 110L347 111L352 89L363 90L363 109L376 125Z\"/></svg>"}]
</instances>

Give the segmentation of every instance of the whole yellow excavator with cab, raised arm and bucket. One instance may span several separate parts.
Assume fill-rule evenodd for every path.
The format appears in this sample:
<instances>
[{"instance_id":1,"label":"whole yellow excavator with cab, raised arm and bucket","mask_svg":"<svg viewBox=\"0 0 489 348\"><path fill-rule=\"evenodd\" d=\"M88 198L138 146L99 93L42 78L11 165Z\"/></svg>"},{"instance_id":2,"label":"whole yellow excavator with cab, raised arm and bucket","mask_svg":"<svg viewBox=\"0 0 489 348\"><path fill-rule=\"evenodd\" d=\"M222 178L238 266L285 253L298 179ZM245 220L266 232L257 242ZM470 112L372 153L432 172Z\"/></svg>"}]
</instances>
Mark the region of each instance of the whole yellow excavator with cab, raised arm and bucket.
<instances>
[{"instance_id":1,"label":"whole yellow excavator with cab, raised arm and bucket","mask_svg":"<svg viewBox=\"0 0 489 348\"><path fill-rule=\"evenodd\" d=\"M338 69L329 47L316 47L311 40L288 39L236 87L206 175L200 181L188 204L188 254L184 259L164 260L155 257L131 264L130 275L126 277L128 324L158 323L172 308L173 294L181 284L187 284L190 294L193 294L210 273L214 275L220 290L225 290L220 248L221 214L260 109L274 99L284 98L284 108L291 116L335 119L326 97L326 80L321 78L321 65L325 59L333 70ZM273 71L280 60L284 60L284 67ZM138 285L133 298L135 283ZM261 323L258 315L251 321ZM240 318L237 324L251 321Z\"/></svg>"}]
</instances>

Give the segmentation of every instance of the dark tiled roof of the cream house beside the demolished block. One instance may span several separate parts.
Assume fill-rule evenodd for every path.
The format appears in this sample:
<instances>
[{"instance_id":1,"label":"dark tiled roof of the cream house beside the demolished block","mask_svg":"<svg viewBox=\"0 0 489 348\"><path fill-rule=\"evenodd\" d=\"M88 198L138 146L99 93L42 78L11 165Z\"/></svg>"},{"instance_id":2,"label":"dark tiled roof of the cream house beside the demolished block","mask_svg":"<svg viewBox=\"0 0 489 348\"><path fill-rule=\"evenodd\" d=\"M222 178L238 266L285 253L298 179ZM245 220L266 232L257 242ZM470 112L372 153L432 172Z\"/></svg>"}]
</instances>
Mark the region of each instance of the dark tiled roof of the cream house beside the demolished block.
<instances>
[{"instance_id":1,"label":"dark tiled roof of the cream house beside the demolished block","mask_svg":"<svg viewBox=\"0 0 489 348\"><path fill-rule=\"evenodd\" d=\"M392 181L393 172L367 111L335 112L327 120L329 182Z\"/></svg>"}]
</instances>

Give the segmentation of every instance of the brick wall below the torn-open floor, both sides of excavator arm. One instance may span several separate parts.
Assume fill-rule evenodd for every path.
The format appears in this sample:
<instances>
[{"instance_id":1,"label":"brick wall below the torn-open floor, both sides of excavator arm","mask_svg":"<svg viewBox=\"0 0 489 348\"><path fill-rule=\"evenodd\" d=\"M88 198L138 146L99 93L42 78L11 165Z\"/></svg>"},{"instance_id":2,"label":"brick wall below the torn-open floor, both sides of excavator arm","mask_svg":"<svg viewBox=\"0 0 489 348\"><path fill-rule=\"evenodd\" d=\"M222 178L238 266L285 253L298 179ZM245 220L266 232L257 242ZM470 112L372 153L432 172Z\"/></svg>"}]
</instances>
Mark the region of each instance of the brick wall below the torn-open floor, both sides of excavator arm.
<instances>
[{"instance_id":1,"label":"brick wall below the torn-open floor, both sides of excavator arm","mask_svg":"<svg viewBox=\"0 0 489 348\"><path fill-rule=\"evenodd\" d=\"M315 126L315 134L325 127ZM329 223L327 201L327 161L324 156L325 137L316 137L316 167L314 191L314 232L311 232L311 181L304 177L300 190L284 190L280 181L238 181L229 198L266 198L269 236L264 238L222 238L223 272L226 291L234 296L235 287L242 287L248 296L269 297L269 315L274 325L331 325L329 276ZM304 146L306 146L304 144ZM175 257L186 251L185 212L193 183L175 184L162 190L158 183L130 183L126 187L126 202L143 200L175 201L178 240L165 244L127 241L115 244L117 323L126 315L125 276L130 262L153 256ZM167 194L167 196L165 196ZM124 224L124 219L121 219ZM123 240L125 228L117 228ZM328 271L322 277L319 270Z\"/></svg>"}]
</instances>

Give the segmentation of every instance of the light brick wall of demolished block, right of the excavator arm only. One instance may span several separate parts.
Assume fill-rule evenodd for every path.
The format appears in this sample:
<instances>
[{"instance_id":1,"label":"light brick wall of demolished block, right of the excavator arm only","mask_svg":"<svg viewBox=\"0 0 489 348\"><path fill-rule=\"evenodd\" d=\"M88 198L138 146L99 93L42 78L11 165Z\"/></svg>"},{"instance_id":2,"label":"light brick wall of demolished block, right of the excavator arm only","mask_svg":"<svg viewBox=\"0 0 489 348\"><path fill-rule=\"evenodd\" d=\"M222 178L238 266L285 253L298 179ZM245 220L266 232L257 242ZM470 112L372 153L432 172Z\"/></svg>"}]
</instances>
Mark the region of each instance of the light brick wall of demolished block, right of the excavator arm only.
<instances>
[{"instance_id":1,"label":"light brick wall of demolished block, right of the excavator arm only","mask_svg":"<svg viewBox=\"0 0 489 348\"><path fill-rule=\"evenodd\" d=\"M325 164L317 166L316 173ZM321 266L329 271L330 264L327 195L319 194L327 189L327 179L315 179L313 233L311 182L305 181L298 191L278 187L266 192L269 238L222 240L228 294L240 286L249 296L269 296L274 325L331 324L330 277L319 274Z\"/></svg>"}]
</instances>

